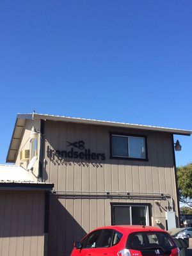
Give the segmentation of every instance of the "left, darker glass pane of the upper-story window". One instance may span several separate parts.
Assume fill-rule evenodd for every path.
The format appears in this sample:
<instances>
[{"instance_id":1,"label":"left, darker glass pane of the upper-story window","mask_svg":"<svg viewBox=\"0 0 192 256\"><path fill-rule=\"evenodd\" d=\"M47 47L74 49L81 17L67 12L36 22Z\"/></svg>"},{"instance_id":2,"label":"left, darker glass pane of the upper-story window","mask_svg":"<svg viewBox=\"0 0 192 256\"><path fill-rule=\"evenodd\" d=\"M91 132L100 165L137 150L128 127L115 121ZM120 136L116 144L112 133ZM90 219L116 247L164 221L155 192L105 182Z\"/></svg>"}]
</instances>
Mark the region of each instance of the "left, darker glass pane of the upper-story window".
<instances>
[{"instance_id":1,"label":"left, darker glass pane of the upper-story window","mask_svg":"<svg viewBox=\"0 0 192 256\"><path fill-rule=\"evenodd\" d=\"M128 141L127 137L112 136L112 151L113 156L128 156Z\"/></svg>"}]
</instances>

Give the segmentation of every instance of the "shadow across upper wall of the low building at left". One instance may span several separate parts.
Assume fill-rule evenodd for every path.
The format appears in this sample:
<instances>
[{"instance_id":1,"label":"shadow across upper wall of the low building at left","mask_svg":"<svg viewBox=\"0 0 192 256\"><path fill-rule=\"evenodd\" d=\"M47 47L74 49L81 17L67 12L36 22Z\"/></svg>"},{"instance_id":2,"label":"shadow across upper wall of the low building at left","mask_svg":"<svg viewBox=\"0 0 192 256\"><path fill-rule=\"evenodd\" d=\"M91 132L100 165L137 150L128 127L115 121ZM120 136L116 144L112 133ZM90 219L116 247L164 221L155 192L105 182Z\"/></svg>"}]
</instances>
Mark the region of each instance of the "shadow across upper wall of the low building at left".
<instances>
[{"instance_id":1,"label":"shadow across upper wall of the low building at left","mask_svg":"<svg viewBox=\"0 0 192 256\"><path fill-rule=\"evenodd\" d=\"M1 191L0 237L44 236L44 202L44 192Z\"/></svg>"}]
</instances>

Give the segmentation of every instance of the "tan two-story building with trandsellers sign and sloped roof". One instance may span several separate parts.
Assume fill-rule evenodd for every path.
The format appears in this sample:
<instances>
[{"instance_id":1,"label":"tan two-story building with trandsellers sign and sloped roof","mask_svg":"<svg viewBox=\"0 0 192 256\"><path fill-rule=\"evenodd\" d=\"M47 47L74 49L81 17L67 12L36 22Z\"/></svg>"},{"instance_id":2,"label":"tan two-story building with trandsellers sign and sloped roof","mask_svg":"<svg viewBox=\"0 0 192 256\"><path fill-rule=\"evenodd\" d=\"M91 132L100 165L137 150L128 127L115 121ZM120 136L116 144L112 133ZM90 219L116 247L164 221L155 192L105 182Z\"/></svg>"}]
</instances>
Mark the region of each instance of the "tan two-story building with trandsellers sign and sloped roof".
<instances>
[{"instance_id":1,"label":"tan two-story building with trandsellers sign and sloped roof","mask_svg":"<svg viewBox=\"0 0 192 256\"><path fill-rule=\"evenodd\" d=\"M45 198L44 255L69 255L74 241L99 226L178 227L173 134L191 131L17 115L6 161L54 184Z\"/></svg>"}]
</instances>

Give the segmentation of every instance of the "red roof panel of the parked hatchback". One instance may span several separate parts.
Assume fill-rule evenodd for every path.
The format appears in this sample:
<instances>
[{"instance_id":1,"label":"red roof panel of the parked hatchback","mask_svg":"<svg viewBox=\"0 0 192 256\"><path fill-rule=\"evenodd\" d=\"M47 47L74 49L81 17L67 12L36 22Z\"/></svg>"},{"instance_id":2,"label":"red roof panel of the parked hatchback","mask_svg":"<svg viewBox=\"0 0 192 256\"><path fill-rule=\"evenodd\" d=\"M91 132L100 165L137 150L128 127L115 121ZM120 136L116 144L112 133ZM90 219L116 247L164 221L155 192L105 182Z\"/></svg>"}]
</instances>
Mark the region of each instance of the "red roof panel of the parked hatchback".
<instances>
[{"instance_id":1,"label":"red roof panel of the parked hatchback","mask_svg":"<svg viewBox=\"0 0 192 256\"><path fill-rule=\"evenodd\" d=\"M115 229L119 232L166 232L159 227L152 227L152 226L142 226L142 225L114 225L114 226L106 226L106 227L99 227L98 229Z\"/></svg>"}]
</instances>

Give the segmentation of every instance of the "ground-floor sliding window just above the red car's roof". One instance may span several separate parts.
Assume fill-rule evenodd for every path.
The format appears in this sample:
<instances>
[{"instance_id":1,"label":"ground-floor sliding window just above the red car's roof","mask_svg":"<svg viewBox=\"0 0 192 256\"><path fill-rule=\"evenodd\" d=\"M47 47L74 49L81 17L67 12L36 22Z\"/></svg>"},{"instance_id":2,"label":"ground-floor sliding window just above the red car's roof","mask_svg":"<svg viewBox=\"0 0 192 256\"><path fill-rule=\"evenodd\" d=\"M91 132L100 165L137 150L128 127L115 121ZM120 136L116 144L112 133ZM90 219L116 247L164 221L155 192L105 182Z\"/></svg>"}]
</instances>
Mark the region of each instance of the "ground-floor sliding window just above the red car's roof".
<instances>
[{"instance_id":1,"label":"ground-floor sliding window just above the red car's roof","mask_svg":"<svg viewBox=\"0 0 192 256\"><path fill-rule=\"evenodd\" d=\"M150 225L149 205L111 203L112 225Z\"/></svg>"}]
</instances>

